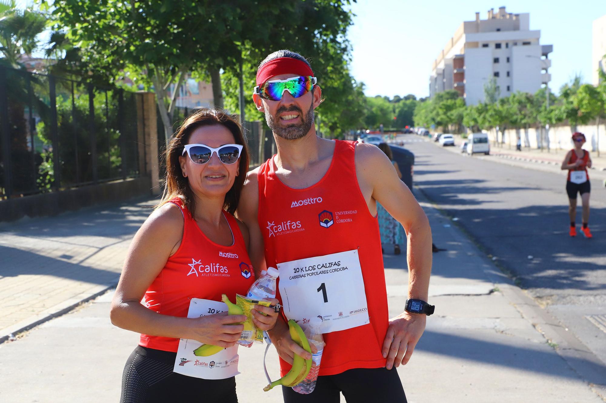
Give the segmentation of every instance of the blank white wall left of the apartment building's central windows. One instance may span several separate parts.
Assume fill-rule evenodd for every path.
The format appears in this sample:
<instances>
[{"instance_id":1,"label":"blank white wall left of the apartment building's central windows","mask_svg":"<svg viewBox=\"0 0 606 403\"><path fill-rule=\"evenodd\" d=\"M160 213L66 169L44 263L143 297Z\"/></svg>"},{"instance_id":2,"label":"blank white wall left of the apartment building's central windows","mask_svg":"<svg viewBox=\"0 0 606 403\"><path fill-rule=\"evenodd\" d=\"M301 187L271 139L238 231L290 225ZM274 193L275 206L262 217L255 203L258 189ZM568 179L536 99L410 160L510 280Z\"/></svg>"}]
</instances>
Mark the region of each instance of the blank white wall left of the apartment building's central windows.
<instances>
[{"instance_id":1,"label":"blank white wall left of the apartment building's central windows","mask_svg":"<svg viewBox=\"0 0 606 403\"><path fill-rule=\"evenodd\" d=\"M492 48L465 50L465 104L484 101L484 83L493 76Z\"/></svg>"}]
</instances>

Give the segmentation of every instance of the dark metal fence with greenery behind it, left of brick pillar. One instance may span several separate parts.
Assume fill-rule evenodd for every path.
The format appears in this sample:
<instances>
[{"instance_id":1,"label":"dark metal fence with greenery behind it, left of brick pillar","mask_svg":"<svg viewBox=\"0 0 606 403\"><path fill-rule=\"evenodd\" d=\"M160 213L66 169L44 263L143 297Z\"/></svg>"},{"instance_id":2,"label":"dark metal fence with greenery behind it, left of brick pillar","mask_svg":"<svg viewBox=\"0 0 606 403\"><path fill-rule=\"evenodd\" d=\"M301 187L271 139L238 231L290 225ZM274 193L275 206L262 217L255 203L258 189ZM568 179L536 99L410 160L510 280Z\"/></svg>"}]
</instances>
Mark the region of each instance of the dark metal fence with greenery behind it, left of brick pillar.
<instances>
[{"instance_id":1,"label":"dark metal fence with greenery behind it, left of brick pillar","mask_svg":"<svg viewBox=\"0 0 606 403\"><path fill-rule=\"evenodd\" d=\"M137 96L0 67L0 200L139 176Z\"/></svg>"}]
</instances>

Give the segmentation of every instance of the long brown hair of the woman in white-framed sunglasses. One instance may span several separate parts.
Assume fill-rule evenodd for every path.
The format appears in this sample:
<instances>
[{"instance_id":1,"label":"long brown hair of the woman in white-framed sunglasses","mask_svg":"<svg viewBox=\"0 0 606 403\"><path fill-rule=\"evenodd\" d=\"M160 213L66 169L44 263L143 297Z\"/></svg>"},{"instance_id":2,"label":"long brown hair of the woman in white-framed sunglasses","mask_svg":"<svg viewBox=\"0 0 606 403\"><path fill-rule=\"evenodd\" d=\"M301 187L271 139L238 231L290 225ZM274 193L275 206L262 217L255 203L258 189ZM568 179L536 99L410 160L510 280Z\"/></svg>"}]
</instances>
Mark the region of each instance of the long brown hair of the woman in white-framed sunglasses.
<instances>
[{"instance_id":1,"label":"long brown hair of the woman in white-framed sunglasses","mask_svg":"<svg viewBox=\"0 0 606 403\"><path fill-rule=\"evenodd\" d=\"M230 190L225 194L225 202L223 204L224 210L228 213L233 214L236 211L238 202L240 201L242 187L244 187L246 173L248 172L248 147L244 139L244 134L242 133L241 125L230 115L217 109L201 109L190 115L185 119L175 136L173 136L168 143L166 151L164 152L164 161L166 164L164 193L162 193L162 200L156 205L156 208L161 207L171 201L171 199L179 197L182 199L185 207L190 211L191 216L195 217L196 199L191 191L188 179L184 178L183 173L181 172L179 156L181 156L185 145L188 144L191 133L193 133L194 130L198 127L214 125L223 125L227 127L233 135L235 143L244 145L240 155L239 175L236 176Z\"/></svg>"}]
</instances>

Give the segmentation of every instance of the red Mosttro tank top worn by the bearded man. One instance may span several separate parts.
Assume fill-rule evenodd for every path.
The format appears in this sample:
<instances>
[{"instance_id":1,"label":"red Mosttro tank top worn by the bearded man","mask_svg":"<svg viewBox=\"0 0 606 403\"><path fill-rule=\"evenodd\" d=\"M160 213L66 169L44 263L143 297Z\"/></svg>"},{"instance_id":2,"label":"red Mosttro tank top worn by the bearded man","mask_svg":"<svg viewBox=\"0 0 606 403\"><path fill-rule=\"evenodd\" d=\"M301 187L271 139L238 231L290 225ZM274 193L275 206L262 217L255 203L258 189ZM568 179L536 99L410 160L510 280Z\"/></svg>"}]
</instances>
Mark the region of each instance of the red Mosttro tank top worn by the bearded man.
<instances>
[{"instance_id":1,"label":"red Mosttro tank top worn by the bearded man","mask_svg":"<svg viewBox=\"0 0 606 403\"><path fill-rule=\"evenodd\" d=\"M328 172L304 189L282 183L273 158L259 168L258 218L268 266L358 249L370 324L325 333L319 375L385 367L386 362L381 348L389 319L381 236L358 185L355 148L356 142L336 140ZM333 216L329 227L321 225L327 213ZM295 225L296 230L281 231L270 224L290 229ZM281 298L279 293L276 298ZM280 365L282 374L290 369L282 359Z\"/></svg>"}]
</instances>

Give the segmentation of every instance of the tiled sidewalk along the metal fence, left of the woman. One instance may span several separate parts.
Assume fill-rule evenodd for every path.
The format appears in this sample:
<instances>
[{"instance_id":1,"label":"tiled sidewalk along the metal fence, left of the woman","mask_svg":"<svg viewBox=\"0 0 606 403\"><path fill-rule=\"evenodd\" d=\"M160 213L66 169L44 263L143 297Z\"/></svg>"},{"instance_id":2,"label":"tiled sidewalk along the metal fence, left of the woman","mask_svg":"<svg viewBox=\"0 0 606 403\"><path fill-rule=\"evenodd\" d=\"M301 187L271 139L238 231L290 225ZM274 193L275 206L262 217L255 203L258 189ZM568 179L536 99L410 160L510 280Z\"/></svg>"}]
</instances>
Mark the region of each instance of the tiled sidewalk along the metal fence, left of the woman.
<instances>
[{"instance_id":1,"label":"tiled sidewalk along the metal fence, left of the woman","mask_svg":"<svg viewBox=\"0 0 606 403\"><path fill-rule=\"evenodd\" d=\"M0 224L0 343L118 284L152 200Z\"/></svg>"}]
</instances>

